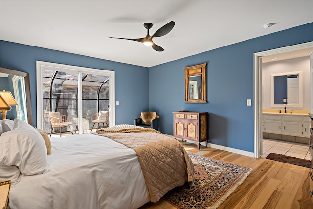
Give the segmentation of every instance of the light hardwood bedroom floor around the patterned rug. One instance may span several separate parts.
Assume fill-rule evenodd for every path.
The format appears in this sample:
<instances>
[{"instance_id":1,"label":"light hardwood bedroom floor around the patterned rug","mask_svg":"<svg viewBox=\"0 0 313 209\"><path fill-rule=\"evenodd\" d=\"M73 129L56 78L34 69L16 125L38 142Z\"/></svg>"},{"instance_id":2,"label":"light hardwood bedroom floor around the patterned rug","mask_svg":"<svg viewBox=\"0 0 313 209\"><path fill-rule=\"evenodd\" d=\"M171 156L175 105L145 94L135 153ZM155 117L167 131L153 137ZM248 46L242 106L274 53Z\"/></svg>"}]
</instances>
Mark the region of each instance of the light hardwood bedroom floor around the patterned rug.
<instances>
[{"instance_id":1,"label":"light hardwood bedroom floor around the patterned rug","mask_svg":"<svg viewBox=\"0 0 313 209\"><path fill-rule=\"evenodd\" d=\"M264 158L251 158L231 152L182 142L186 151L253 168L246 180L218 209L313 209L310 199L309 168ZM147 203L140 209L176 209L164 200Z\"/></svg>"}]
</instances>

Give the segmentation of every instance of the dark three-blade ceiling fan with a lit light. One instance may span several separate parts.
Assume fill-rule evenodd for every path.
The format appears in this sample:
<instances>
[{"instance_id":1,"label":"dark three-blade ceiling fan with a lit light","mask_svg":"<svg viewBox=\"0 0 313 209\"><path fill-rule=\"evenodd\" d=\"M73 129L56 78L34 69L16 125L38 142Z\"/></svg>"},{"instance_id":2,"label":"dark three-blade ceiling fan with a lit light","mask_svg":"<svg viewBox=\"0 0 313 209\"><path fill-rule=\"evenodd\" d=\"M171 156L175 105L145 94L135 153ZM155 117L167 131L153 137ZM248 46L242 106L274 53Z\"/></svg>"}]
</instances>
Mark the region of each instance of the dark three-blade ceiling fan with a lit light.
<instances>
[{"instance_id":1,"label":"dark three-blade ceiling fan with a lit light","mask_svg":"<svg viewBox=\"0 0 313 209\"><path fill-rule=\"evenodd\" d=\"M152 27L152 25L153 25L152 23L144 23L143 24L143 26L145 28L147 28L147 30L148 30L147 35L144 38L128 39L128 38L116 38L116 37L110 37L110 36L108 36L108 37L113 38L113 39L126 39L126 40L131 40L131 41L137 41L137 42L143 43L146 46L152 46L152 48L155 49L156 51L164 51L164 49L161 46L156 45L152 41L152 39L168 34L173 29L175 22L171 21L171 22L167 23L166 25L164 25L160 29L158 29L152 36L150 36L149 35L149 29Z\"/></svg>"}]
</instances>

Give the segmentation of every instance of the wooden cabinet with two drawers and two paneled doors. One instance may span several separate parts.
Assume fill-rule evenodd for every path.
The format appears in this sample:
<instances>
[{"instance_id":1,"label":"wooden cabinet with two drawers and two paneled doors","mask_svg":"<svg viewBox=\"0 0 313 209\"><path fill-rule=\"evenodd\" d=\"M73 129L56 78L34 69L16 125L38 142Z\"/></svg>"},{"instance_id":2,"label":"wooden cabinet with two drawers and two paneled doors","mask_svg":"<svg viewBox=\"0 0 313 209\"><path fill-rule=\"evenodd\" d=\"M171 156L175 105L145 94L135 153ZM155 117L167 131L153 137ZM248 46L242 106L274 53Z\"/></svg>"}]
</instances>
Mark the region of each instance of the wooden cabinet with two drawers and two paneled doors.
<instances>
[{"instance_id":1,"label":"wooden cabinet with two drawers and two paneled doors","mask_svg":"<svg viewBox=\"0 0 313 209\"><path fill-rule=\"evenodd\" d=\"M209 139L209 114L207 112L173 112L174 138L186 139L197 142L205 141L207 147Z\"/></svg>"}]
</instances>

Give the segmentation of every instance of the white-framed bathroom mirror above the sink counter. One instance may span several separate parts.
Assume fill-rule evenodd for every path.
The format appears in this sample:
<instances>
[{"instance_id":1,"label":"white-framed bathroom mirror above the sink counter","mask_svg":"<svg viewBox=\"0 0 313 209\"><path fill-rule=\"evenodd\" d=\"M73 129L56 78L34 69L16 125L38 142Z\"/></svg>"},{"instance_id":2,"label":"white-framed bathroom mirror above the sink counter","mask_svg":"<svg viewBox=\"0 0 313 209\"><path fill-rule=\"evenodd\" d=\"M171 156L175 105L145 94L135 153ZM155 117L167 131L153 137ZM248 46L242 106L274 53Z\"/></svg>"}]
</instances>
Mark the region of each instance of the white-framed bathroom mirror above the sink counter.
<instances>
[{"instance_id":1,"label":"white-framed bathroom mirror above the sink counter","mask_svg":"<svg viewBox=\"0 0 313 209\"><path fill-rule=\"evenodd\" d=\"M303 107L302 71L270 75L271 107Z\"/></svg>"}]
</instances>

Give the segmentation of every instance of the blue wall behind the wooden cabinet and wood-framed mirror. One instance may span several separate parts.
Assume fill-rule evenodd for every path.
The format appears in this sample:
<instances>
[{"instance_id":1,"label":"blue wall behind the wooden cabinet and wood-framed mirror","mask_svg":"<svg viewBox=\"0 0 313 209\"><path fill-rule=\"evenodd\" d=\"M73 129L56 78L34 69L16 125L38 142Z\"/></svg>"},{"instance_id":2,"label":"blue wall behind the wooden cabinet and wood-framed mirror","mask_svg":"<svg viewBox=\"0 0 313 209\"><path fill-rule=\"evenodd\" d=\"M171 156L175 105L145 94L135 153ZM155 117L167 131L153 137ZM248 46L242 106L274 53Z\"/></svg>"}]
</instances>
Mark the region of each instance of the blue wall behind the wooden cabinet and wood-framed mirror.
<instances>
[{"instance_id":1,"label":"blue wall behind the wooden cabinet and wood-framed mirror","mask_svg":"<svg viewBox=\"0 0 313 209\"><path fill-rule=\"evenodd\" d=\"M253 53L313 41L313 23L149 68L149 106L160 131L173 134L173 111L210 113L211 143L254 152ZM207 63L206 104L184 103L184 67Z\"/></svg>"}]
</instances>

